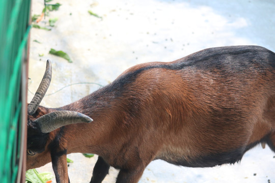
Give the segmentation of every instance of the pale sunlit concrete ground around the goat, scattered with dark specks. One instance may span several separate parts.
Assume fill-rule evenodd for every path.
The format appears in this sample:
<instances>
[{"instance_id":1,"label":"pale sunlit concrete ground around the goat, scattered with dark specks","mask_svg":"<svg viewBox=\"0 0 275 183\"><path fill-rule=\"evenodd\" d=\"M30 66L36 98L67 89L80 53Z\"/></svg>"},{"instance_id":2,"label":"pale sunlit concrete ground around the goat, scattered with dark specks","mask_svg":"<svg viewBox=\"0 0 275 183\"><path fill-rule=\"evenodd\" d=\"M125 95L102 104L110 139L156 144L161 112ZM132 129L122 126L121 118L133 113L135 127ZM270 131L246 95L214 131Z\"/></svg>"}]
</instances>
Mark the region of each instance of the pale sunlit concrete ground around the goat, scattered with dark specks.
<instances>
[{"instance_id":1,"label":"pale sunlit concrete ground around the goat, scattered with dark specks","mask_svg":"<svg viewBox=\"0 0 275 183\"><path fill-rule=\"evenodd\" d=\"M43 1L32 2L32 14L40 14ZM40 26L48 26L49 18L58 18L51 31L32 29L28 94L30 102L50 58L52 81L41 103L46 107L74 102L98 89L98 84L106 85L140 63L169 62L204 48L226 45L260 45L275 51L272 0L49 3L62 6L39 22ZM90 15L89 10L102 18ZM68 53L73 63L48 54L50 48ZM240 164L214 168L186 168L154 161L140 182L275 182L274 155L268 147L257 146L245 154ZM71 182L89 182L97 157L68 157L74 161L68 170ZM51 165L38 171L52 172ZM103 182L115 182L116 174L117 170L111 169Z\"/></svg>"}]
</instances>

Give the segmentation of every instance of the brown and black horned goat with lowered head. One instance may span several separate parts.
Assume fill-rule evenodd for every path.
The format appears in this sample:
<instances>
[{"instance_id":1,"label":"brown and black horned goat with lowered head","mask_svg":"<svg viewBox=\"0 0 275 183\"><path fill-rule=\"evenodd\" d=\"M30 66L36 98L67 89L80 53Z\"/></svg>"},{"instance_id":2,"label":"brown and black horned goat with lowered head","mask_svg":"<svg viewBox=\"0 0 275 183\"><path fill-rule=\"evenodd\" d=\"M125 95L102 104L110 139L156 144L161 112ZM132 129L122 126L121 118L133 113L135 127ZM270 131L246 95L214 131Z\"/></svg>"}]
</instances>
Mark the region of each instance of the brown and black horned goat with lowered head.
<instances>
[{"instance_id":1,"label":"brown and black horned goat with lowered head","mask_svg":"<svg viewBox=\"0 0 275 183\"><path fill-rule=\"evenodd\" d=\"M137 182L153 160L213 167L262 143L275 151L275 53L260 46L209 48L174 62L136 65L60 108L39 106L49 60L28 106L27 169L52 162L69 182L66 156L97 154L91 183L109 167ZM93 119L92 119L93 118Z\"/></svg>"}]
</instances>

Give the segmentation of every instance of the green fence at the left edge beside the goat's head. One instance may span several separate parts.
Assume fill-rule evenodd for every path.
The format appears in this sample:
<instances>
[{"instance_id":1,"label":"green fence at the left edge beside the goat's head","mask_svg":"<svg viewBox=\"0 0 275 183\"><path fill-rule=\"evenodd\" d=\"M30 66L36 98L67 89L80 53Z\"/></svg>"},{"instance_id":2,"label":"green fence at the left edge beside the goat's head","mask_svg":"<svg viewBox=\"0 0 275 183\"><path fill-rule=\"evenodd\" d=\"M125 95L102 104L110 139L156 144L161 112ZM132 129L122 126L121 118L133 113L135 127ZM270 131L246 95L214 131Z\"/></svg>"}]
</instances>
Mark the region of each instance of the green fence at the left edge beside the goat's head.
<instances>
[{"instance_id":1,"label":"green fence at the left edge beside the goat's head","mask_svg":"<svg viewBox=\"0 0 275 183\"><path fill-rule=\"evenodd\" d=\"M21 75L31 28L30 5L31 0L0 0L0 181L4 183L16 182L21 173L25 124Z\"/></svg>"}]
</instances>

